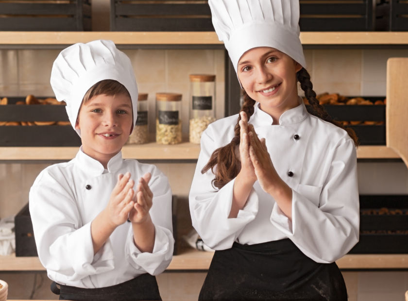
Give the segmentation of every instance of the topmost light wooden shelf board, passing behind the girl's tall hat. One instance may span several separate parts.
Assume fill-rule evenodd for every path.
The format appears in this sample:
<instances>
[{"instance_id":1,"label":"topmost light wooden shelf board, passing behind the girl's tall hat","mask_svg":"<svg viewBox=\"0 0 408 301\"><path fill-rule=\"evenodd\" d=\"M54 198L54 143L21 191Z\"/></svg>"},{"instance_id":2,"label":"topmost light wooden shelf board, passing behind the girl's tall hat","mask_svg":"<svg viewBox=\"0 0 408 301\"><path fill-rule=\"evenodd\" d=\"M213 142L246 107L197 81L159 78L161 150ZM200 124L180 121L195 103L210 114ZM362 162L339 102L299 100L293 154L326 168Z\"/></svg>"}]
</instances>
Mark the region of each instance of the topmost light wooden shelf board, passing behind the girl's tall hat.
<instances>
[{"instance_id":1,"label":"topmost light wooden shelf board, passing behind the girl's tall hat","mask_svg":"<svg viewBox=\"0 0 408 301\"><path fill-rule=\"evenodd\" d=\"M222 45L215 32L0 32L1 45ZM408 45L408 32L301 32L303 45Z\"/></svg>"}]
</instances>

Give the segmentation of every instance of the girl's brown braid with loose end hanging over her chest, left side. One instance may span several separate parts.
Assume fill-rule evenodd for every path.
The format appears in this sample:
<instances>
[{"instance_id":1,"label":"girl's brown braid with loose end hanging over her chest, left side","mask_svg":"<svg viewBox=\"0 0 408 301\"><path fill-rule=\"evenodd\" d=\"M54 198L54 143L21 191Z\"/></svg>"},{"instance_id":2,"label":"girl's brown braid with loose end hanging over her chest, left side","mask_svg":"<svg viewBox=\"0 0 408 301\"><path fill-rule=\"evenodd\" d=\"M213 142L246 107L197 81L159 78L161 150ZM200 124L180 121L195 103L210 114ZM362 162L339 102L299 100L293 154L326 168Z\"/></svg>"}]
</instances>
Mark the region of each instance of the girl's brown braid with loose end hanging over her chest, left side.
<instances>
[{"instance_id":1,"label":"girl's brown braid with loose end hanging over her chest, left side","mask_svg":"<svg viewBox=\"0 0 408 301\"><path fill-rule=\"evenodd\" d=\"M255 111L255 100L250 98L245 90L242 90L244 94L244 103L240 112L245 112L249 118L254 114ZM240 131L239 120L241 116L238 116L237 125L234 128L235 136L226 146L215 150L208 163L203 167L201 173L206 173L209 169L215 174L212 184L214 187L221 189L235 177L237 177L241 165L238 159L236 148L240 142ZM214 171L214 169L216 169Z\"/></svg>"}]
</instances>

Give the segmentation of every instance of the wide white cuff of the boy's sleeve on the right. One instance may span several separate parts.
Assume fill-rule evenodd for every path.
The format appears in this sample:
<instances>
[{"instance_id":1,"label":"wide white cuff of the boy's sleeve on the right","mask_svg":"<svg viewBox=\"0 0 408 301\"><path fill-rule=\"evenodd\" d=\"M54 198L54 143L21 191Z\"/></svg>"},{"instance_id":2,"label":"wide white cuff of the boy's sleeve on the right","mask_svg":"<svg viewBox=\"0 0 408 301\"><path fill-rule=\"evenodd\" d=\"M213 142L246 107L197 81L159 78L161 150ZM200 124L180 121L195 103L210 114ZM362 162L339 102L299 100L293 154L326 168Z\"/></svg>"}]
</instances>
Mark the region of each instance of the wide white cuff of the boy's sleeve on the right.
<instances>
[{"instance_id":1,"label":"wide white cuff of the boy's sleeve on the right","mask_svg":"<svg viewBox=\"0 0 408 301\"><path fill-rule=\"evenodd\" d=\"M163 272L170 264L173 256L174 238L167 228L154 225L153 252L141 252L137 249L134 241L132 227L126 242L128 262L136 269L142 269L151 275ZM163 262L167 261L163 265Z\"/></svg>"}]
</instances>

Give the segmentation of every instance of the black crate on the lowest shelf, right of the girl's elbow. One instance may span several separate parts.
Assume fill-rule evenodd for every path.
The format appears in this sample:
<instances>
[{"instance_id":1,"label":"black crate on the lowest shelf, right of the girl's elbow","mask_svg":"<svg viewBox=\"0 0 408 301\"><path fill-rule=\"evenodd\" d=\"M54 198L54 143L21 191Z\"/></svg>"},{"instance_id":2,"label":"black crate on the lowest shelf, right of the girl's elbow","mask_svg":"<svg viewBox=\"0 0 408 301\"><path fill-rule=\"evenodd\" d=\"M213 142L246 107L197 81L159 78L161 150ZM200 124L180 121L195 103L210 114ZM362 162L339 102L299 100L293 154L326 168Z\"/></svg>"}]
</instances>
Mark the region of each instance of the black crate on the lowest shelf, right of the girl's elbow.
<instances>
[{"instance_id":1,"label":"black crate on the lowest shelf, right of the girl's elbow","mask_svg":"<svg viewBox=\"0 0 408 301\"><path fill-rule=\"evenodd\" d=\"M360 231L407 231L408 215L363 215L367 209L408 209L407 195L360 196ZM360 234L350 254L407 254L408 234Z\"/></svg>"}]
</instances>

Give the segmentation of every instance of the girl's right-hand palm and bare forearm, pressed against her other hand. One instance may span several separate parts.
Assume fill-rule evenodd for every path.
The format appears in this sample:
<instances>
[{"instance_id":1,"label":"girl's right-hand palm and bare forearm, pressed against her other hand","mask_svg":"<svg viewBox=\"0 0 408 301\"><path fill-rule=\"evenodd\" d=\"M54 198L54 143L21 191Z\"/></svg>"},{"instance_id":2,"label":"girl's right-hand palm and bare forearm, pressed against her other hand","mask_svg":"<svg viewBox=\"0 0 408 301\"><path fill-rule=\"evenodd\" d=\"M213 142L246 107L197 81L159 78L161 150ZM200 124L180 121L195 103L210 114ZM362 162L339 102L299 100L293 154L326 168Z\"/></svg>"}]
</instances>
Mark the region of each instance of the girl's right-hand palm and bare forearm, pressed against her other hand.
<instances>
[{"instance_id":1,"label":"girl's right-hand palm and bare forearm, pressed against her other hand","mask_svg":"<svg viewBox=\"0 0 408 301\"><path fill-rule=\"evenodd\" d=\"M269 193L279 208L291 220L292 218L292 189L276 172L271 156L266 147L265 138L259 140L252 125L249 127L249 154L255 169L256 178L261 188Z\"/></svg>"}]
</instances>

